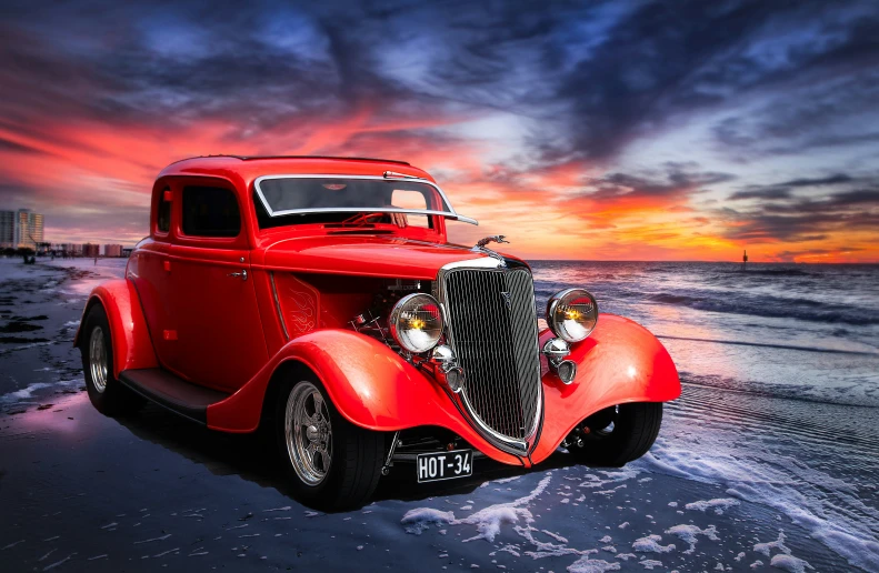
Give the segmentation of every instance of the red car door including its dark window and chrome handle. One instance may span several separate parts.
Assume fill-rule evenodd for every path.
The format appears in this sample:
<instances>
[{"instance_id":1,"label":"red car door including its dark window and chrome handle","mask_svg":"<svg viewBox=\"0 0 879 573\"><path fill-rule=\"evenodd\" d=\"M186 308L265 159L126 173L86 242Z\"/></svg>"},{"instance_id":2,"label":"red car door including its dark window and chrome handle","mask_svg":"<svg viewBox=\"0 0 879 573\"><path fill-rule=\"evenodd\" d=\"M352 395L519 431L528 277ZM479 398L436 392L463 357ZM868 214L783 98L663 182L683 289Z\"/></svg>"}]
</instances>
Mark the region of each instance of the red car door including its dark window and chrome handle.
<instances>
[{"instance_id":1,"label":"red car door including its dark window and chrome handle","mask_svg":"<svg viewBox=\"0 0 879 573\"><path fill-rule=\"evenodd\" d=\"M177 352L187 380L233 392L268 361L238 197L226 184L183 184L171 247Z\"/></svg>"}]
</instances>

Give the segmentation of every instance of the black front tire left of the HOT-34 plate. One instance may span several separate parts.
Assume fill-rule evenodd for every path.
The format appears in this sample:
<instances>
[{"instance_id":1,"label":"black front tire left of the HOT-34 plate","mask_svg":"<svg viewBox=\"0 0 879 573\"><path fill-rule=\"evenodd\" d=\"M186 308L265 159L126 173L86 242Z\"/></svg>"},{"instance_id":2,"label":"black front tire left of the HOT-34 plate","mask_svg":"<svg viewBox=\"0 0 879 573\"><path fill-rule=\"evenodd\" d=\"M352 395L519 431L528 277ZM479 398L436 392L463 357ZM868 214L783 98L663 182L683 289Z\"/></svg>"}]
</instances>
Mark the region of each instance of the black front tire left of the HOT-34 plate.
<instances>
[{"instance_id":1,"label":"black front tire left of the HOT-34 plate","mask_svg":"<svg viewBox=\"0 0 879 573\"><path fill-rule=\"evenodd\" d=\"M310 441L309 428L317 425L304 426L294 423L293 410L300 400L303 401L306 414L316 410L314 391L320 394L322 406L326 406L326 410L321 409L321 419L329 416L330 433L327 439L326 432L319 430L314 436L316 441ZM288 409L290 403L293 404L290 406L292 410ZM384 434L364 430L346 420L329 400L326 389L312 372L299 370L292 381L283 383L277 393L273 419L278 453L298 500L311 507L338 511L362 506L370 499L381 476ZM288 419L290 420L289 441ZM297 425L301 432L298 438ZM302 444L302 448L317 444L318 450L311 454L311 465L316 470L313 475L309 472L309 462L302 461L308 460L309 454L301 450L299 454L294 453L297 444ZM330 460L326 468L322 462L324 453ZM297 460L298 455L300 458ZM321 471L323 471L322 478L319 475ZM304 475L301 475L303 473ZM316 482L318 478L319 481Z\"/></svg>"}]
</instances>

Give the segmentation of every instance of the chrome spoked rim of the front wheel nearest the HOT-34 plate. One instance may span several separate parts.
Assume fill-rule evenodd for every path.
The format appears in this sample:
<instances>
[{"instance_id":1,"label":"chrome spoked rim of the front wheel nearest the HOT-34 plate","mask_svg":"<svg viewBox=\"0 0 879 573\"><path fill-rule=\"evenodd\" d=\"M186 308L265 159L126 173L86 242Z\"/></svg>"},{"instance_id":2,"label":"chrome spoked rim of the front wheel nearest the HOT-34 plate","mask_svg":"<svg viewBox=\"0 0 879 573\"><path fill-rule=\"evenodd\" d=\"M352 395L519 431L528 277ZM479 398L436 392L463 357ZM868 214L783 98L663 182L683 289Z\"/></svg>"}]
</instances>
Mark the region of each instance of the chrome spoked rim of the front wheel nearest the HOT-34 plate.
<instances>
[{"instance_id":1,"label":"chrome spoked rim of the front wheel nearest the HOT-34 plate","mask_svg":"<svg viewBox=\"0 0 879 573\"><path fill-rule=\"evenodd\" d=\"M332 462L332 426L323 395L311 382L298 383L287 399L284 440L299 479L308 485L322 482Z\"/></svg>"}]
</instances>

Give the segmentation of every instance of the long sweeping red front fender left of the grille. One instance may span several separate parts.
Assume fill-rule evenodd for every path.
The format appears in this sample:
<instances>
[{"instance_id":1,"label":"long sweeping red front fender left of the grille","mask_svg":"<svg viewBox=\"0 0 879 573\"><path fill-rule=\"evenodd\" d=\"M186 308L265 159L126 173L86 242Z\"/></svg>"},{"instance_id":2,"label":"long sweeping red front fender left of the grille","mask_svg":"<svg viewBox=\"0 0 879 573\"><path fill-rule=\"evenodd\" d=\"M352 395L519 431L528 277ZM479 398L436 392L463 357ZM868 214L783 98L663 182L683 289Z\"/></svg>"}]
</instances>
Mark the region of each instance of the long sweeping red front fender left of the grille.
<instances>
[{"instance_id":1,"label":"long sweeping red front fender left of the grille","mask_svg":"<svg viewBox=\"0 0 879 573\"><path fill-rule=\"evenodd\" d=\"M256 430L268 383L278 366L290 360L317 374L332 403L353 424L383 432L419 425L447 428L499 462L522 463L486 442L437 382L386 344L349 330L318 330L288 342L238 392L208 406L208 428Z\"/></svg>"}]
</instances>

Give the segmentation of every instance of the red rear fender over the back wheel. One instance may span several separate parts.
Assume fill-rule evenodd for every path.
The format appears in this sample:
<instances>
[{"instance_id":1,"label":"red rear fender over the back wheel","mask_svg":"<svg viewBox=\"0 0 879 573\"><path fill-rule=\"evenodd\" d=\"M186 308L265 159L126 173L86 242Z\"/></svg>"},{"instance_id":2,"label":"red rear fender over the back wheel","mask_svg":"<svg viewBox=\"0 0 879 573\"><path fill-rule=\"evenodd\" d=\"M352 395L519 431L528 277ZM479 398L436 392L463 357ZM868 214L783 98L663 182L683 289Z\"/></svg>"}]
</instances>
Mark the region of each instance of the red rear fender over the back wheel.
<instances>
[{"instance_id":1,"label":"red rear fender over the back wheel","mask_svg":"<svg viewBox=\"0 0 879 573\"><path fill-rule=\"evenodd\" d=\"M100 303L110 323L113 341L113 375L128 369L157 368L156 352L140 308L140 298L134 284L124 279L107 281L96 286L89 295L82 319L79 322L73 345L79 345L79 335L86 314L92 305Z\"/></svg>"}]
</instances>

